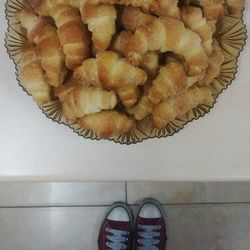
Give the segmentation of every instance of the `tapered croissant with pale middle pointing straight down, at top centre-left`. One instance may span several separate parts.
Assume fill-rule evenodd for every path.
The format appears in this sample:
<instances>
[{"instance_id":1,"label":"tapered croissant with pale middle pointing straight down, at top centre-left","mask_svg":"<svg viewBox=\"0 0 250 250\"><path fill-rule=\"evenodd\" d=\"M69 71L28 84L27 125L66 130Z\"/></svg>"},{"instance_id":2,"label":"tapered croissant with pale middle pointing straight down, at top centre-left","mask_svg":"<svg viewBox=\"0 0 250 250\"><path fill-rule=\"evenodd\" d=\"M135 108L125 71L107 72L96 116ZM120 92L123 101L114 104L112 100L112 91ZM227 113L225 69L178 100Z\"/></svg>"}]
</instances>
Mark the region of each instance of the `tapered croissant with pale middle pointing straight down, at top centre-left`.
<instances>
[{"instance_id":1,"label":"tapered croissant with pale middle pointing straight down, at top centre-left","mask_svg":"<svg viewBox=\"0 0 250 250\"><path fill-rule=\"evenodd\" d=\"M81 15L84 23L92 32L92 41L96 50L109 48L112 36L116 32L116 9L112 5L92 5L86 3L81 7Z\"/></svg>"}]
</instances>

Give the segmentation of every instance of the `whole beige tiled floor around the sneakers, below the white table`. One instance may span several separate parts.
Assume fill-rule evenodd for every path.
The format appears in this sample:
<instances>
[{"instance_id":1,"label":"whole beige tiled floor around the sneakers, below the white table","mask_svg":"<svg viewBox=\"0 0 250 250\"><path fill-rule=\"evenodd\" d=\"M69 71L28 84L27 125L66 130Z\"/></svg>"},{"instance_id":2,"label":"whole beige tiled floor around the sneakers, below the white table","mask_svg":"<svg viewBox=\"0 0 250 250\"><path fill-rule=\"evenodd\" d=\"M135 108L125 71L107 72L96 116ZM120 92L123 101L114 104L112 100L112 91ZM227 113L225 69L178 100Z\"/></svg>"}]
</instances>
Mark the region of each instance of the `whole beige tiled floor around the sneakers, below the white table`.
<instances>
[{"instance_id":1,"label":"whole beige tiled floor around the sneakers, below the white table","mask_svg":"<svg viewBox=\"0 0 250 250\"><path fill-rule=\"evenodd\" d=\"M0 250L97 250L114 201L164 204L167 250L249 250L250 183L0 183Z\"/></svg>"}]
</instances>

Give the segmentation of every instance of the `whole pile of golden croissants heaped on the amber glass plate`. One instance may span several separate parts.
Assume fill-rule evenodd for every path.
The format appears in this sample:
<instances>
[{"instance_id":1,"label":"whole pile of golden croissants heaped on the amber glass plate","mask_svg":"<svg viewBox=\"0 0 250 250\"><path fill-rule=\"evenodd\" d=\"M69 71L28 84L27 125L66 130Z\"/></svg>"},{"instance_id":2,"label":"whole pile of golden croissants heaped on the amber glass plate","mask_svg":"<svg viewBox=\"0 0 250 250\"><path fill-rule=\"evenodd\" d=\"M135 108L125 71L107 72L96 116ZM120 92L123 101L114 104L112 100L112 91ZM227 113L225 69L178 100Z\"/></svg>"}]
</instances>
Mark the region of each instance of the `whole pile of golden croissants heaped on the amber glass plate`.
<instances>
[{"instance_id":1,"label":"whole pile of golden croissants heaped on the amber glass plate","mask_svg":"<svg viewBox=\"0 0 250 250\"><path fill-rule=\"evenodd\" d=\"M38 0L16 13L28 40L21 84L101 138L147 116L162 128L213 103L224 62L216 24L243 1Z\"/></svg>"}]
</instances>

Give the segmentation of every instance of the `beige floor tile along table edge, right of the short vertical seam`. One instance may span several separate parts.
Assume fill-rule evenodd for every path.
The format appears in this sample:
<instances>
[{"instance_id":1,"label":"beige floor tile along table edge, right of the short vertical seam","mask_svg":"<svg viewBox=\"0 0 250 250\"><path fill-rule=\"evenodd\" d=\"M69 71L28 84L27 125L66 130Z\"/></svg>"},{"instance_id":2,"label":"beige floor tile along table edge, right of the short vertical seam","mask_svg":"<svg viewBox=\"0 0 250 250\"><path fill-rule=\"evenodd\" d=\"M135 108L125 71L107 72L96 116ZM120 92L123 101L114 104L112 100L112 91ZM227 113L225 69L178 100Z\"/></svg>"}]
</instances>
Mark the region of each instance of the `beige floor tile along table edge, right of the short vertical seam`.
<instances>
[{"instance_id":1,"label":"beige floor tile along table edge, right of the short vertical seam","mask_svg":"<svg viewBox=\"0 0 250 250\"><path fill-rule=\"evenodd\" d=\"M154 197L162 204L250 202L250 182L128 182L129 204Z\"/></svg>"}]
</instances>

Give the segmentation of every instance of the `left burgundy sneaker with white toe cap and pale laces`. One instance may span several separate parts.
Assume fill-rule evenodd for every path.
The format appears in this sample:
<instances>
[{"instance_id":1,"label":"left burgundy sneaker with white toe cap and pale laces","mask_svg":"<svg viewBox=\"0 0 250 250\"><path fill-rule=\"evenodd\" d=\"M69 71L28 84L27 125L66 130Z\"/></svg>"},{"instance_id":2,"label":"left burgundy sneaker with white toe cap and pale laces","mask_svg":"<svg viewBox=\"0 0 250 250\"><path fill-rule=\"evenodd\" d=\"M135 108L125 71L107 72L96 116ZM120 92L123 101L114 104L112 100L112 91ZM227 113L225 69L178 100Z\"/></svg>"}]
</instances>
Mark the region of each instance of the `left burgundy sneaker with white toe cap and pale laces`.
<instances>
[{"instance_id":1,"label":"left burgundy sneaker with white toe cap and pale laces","mask_svg":"<svg viewBox=\"0 0 250 250\"><path fill-rule=\"evenodd\" d=\"M124 203L115 203L107 211L101 226L99 250L131 250L133 215Z\"/></svg>"}]
</instances>

